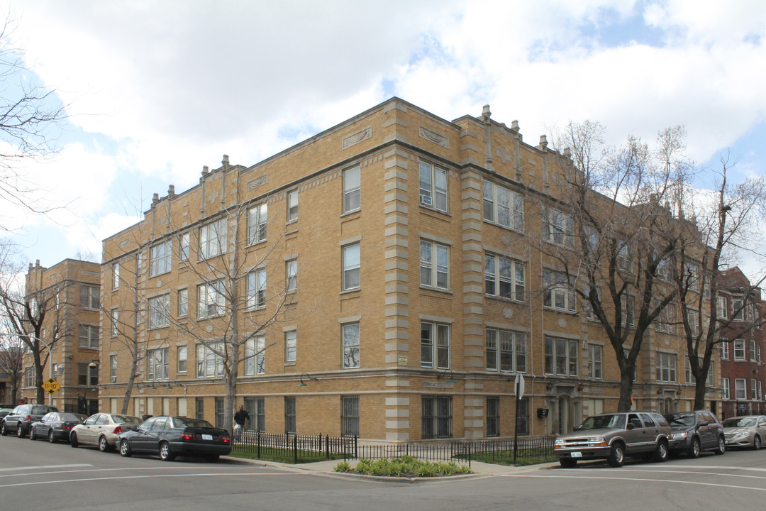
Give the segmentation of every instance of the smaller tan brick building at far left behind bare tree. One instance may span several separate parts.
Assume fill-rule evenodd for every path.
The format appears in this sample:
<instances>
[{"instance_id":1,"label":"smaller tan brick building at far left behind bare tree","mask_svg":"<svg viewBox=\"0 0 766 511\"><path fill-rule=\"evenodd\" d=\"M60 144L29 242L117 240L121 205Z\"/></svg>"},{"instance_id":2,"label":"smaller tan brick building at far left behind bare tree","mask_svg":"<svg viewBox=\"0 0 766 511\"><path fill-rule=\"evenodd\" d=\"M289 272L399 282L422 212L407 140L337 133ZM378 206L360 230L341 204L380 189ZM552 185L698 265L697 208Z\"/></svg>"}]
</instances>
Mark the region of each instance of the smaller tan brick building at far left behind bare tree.
<instances>
[{"instance_id":1,"label":"smaller tan brick building at far left behind bare tree","mask_svg":"<svg viewBox=\"0 0 766 511\"><path fill-rule=\"evenodd\" d=\"M47 308L42 340L51 346L52 358L43 368L43 381L51 377L61 385L47 395L61 411L95 413L98 410L98 361L100 339L100 280L98 263L65 259L50 268L38 260L30 263L26 293ZM43 306L43 305L40 305ZM42 356L47 349L42 349ZM52 362L52 365L51 365ZM31 355L25 356L21 396L36 400Z\"/></svg>"}]
</instances>

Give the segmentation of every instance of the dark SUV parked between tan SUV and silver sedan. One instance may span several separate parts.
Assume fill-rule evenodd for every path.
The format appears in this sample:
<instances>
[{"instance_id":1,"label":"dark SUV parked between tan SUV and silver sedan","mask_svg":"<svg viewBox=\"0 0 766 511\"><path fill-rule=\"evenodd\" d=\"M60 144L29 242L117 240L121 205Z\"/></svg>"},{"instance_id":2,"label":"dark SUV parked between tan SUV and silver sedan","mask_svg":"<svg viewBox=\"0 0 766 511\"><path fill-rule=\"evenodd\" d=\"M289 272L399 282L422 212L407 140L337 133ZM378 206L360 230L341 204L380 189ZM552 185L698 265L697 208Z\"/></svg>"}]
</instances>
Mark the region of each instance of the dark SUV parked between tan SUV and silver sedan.
<instances>
[{"instance_id":1,"label":"dark SUV parked between tan SUV and silver sedan","mask_svg":"<svg viewBox=\"0 0 766 511\"><path fill-rule=\"evenodd\" d=\"M672 454L686 453L696 458L703 450L712 450L715 454L724 454L726 437L721 422L711 411L679 411L665 414L673 429Z\"/></svg>"}]
</instances>

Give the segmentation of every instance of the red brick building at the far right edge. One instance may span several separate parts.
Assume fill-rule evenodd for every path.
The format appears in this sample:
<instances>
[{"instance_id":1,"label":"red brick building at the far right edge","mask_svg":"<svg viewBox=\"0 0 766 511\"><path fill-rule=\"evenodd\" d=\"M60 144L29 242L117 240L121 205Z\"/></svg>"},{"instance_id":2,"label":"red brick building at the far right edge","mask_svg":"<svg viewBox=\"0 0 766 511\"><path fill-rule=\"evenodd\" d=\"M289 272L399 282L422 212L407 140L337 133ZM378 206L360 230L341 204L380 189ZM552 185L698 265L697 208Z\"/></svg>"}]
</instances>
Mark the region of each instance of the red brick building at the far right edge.
<instances>
[{"instance_id":1,"label":"red brick building at the far right edge","mask_svg":"<svg viewBox=\"0 0 766 511\"><path fill-rule=\"evenodd\" d=\"M763 382L766 368L761 359L764 350L766 303L761 288L754 287L738 267L721 274L718 300L719 316L731 320L721 329L721 381L723 417L764 414L766 401Z\"/></svg>"}]
</instances>

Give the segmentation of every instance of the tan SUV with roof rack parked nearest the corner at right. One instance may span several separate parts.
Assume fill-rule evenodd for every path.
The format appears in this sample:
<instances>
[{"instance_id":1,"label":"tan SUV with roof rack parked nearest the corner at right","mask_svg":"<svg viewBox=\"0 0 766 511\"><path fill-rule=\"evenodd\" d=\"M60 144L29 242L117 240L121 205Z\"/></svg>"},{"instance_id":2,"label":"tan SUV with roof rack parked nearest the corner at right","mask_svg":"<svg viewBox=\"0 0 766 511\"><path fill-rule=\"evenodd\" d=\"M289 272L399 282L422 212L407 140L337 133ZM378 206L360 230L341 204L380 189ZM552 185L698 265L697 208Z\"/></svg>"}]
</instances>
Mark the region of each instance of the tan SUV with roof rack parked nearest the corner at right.
<instances>
[{"instance_id":1,"label":"tan SUV with roof rack parked nearest the corner at right","mask_svg":"<svg viewBox=\"0 0 766 511\"><path fill-rule=\"evenodd\" d=\"M557 437L554 454L561 467L575 467L581 460L607 460L612 467L622 467L624 457L633 455L665 461L670 435L665 418L652 411L599 414Z\"/></svg>"}]
</instances>

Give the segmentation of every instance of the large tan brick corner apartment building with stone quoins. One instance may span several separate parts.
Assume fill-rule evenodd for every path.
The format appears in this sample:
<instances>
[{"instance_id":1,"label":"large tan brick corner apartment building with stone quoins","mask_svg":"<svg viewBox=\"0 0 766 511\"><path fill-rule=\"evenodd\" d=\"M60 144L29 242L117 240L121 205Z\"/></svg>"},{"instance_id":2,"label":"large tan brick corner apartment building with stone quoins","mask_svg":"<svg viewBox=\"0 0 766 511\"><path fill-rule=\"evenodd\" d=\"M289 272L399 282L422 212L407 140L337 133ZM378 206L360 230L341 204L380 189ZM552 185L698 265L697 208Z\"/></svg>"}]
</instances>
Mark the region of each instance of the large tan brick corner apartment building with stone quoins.
<instances>
[{"instance_id":1,"label":"large tan brick corner apartment building with stone quoins","mask_svg":"<svg viewBox=\"0 0 766 511\"><path fill-rule=\"evenodd\" d=\"M397 98L256 165L224 156L103 242L101 408L121 408L138 346L129 413L221 424L221 361L195 339L236 326L253 335L237 403L266 431L509 436L516 372L521 434L614 410L611 345L571 293L546 289L553 264L526 241L566 172L543 137L529 146L488 110L449 122ZM230 280L209 278L224 266L243 297L233 323ZM692 405L669 325L647 332L636 408Z\"/></svg>"}]
</instances>

